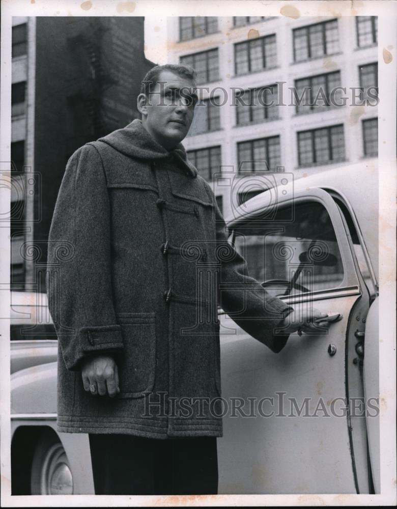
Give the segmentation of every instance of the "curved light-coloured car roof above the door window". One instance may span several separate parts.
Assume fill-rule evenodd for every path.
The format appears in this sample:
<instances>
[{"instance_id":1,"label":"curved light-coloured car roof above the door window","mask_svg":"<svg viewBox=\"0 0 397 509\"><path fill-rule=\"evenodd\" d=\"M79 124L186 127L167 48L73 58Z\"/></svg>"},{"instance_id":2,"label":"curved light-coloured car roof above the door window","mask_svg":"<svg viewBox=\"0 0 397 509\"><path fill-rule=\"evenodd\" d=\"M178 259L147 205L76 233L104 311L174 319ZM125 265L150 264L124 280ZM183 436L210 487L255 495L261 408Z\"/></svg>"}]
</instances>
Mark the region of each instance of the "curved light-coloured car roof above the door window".
<instances>
[{"instance_id":1,"label":"curved light-coloured car roof above the door window","mask_svg":"<svg viewBox=\"0 0 397 509\"><path fill-rule=\"evenodd\" d=\"M273 174L275 175L275 174ZM276 181L280 182L282 173ZM289 175L285 173L288 178ZM370 255L371 262L378 277L378 230L379 230L379 172L378 160L376 158L363 159L355 164L332 165L326 171L310 174L306 169L299 174L294 173L293 185L277 185L277 194L286 191L285 197L291 197L294 193L310 188L320 188L328 192L332 191L341 196L354 211L364 239L365 246ZM238 207L234 213L226 218L226 224L232 226L236 218L242 215L253 213L270 203L269 194L274 190L265 190L263 193L254 196L243 205Z\"/></svg>"}]
</instances>

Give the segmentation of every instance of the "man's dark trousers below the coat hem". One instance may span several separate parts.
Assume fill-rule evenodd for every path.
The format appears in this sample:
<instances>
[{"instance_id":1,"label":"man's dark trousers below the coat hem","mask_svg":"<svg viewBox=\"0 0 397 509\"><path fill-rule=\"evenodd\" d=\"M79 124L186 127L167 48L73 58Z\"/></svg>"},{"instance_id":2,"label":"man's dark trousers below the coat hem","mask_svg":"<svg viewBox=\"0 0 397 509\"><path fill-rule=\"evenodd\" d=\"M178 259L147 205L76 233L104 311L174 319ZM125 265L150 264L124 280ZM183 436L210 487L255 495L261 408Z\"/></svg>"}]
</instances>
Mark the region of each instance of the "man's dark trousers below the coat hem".
<instances>
[{"instance_id":1,"label":"man's dark trousers below the coat hem","mask_svg":"<svg viewBox=\"0 0 397 509\"><path fill-rule=\"evenodd\" d=\"M155 439L90 434L96 495L218 492L215 437Z\"/></svg>"}]
</instances>

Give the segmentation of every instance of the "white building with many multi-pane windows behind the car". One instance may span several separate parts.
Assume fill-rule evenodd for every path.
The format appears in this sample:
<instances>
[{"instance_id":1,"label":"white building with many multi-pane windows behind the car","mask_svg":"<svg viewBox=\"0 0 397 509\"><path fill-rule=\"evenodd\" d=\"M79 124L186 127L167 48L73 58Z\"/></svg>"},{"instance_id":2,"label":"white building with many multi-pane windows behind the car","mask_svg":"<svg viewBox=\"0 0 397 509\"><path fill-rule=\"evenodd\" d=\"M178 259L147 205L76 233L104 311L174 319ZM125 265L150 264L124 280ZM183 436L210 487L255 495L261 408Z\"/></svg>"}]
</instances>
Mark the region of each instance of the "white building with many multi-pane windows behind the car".
<instances>
[{"instance_id":1,"label":"white building with many multi-pane windows behind the car","mask_svg":"<svg viewBox=\"0 0 397 509\"><path fill-rule=\"evenodd\" d=\"M161 28L167 61L197 72L203 101L184 146L224 215L269 170L333 165L340 178L341 165L377 156L377 17L168 17Z\"/></svg>"}]
</instances>

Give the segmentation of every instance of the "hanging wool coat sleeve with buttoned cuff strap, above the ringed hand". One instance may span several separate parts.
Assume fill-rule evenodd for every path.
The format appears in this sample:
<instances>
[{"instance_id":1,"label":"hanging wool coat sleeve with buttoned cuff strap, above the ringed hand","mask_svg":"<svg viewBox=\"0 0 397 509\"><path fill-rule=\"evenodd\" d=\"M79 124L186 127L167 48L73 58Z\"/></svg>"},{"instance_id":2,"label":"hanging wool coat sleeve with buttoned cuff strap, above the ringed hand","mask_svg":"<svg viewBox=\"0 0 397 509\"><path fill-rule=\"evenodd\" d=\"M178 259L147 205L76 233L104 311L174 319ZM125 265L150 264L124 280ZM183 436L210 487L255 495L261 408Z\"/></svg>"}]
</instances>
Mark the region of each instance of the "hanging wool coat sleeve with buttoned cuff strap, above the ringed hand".
<instances>
[{"instance_id":1,"label":"hanging wool coat sleeve with buttoned cuff strap, above the ringed hand","mask_svg":"<svg viewBox=\"0 0 397 509\"><path fill-rule=\"evenodd\" d=\"M123 349L112 301L110 220L102 160L85 145L69 159L48 240L49 311L68 370Z\"/></svg>"}]
</instances>

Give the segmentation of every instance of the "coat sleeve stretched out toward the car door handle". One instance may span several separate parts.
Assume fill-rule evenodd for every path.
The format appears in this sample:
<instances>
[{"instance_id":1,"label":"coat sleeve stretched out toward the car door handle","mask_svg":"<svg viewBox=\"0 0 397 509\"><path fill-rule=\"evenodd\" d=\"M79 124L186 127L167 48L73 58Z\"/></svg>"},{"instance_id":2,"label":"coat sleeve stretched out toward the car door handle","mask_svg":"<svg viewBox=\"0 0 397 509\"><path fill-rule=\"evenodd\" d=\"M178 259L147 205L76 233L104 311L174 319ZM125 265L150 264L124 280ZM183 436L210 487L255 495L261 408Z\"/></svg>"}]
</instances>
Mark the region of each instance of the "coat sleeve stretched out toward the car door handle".
<instances>
[{"instance_id":1,"label":"coat sleeve stretched out toward the car door handle","mask_svg":"<svg viewBox=\"0 0 397 509\"><path fill-rule=\"evenodd\" d=\"M245 332L278 353L285 347L289 334L276 330L293 308L271 297L260 282L248 275L246 261L228 242L228 230L216 201L215 222L221 260L220 306Z\"/></svg>"}]
</instances>

